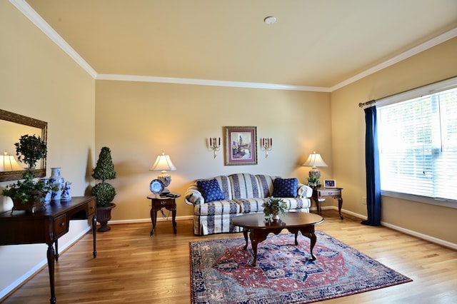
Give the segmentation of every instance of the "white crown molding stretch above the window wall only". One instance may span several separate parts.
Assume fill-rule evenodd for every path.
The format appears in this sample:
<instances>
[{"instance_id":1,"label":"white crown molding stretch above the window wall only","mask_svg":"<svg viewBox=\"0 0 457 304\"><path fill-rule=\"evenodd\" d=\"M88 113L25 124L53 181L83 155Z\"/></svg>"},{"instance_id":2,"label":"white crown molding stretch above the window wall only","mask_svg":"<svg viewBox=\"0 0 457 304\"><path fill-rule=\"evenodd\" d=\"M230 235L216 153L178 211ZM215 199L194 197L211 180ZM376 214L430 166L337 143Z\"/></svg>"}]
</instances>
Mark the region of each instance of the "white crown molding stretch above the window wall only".
<instances>
[{"instance_id":1,"label":"white crown molding stretch above the window wall only","mask_svg":"<svg viewBox=\"0 0 457 304\"><path fill-rule=\"evenodd\" d=\"M383 63L378 64L377 66L373 66L373 68L371 68L371 69L363 71L360 74L357 74L356 76L352 76L351 78L348 78L345 81L341 81L340 83L336 84L335 86L332 86L330 88L330 91L331 92L336 91L336 90L338 90L338 88L342 88L343 86L347 86L348 84L358 81L361 78L374 74L377 71L386 69L388 66L393 66L393 64L398 64L398 62L400 62L400 61L408 59L409 57L419 54L422 51L426 51L427 49L431 49L433 46L442 44L443 42L448 41L449 39L453 39L456 36L457 36L457 28L451 29L450 31L446 31L446 33L441 34L440 36L436 36L435 38L430 39L430 40L424 42L423 44L419 44L418 46L413 47L413 49L409 49L408 51L405 51L402 54L399 54L391 59L388 59L388 60L384 61Z\"/></svg>"}]
</instances>

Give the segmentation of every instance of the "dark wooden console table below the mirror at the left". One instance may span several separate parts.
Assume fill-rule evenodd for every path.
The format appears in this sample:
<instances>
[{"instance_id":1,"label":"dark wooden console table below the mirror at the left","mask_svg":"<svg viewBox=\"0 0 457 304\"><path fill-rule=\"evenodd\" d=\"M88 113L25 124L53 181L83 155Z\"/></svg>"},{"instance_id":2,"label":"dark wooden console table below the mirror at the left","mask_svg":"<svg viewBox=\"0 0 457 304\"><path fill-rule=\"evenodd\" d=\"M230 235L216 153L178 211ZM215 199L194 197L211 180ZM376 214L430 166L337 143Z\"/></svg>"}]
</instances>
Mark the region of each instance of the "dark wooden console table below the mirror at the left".
<instances>
[{"instance_id":1,"label":"dark wooden console table below the mirror at the left","mask_svg":"<svg viewBox=\"0 0 457 304\"><path fill-rule=\"evenodd\" d=\"M71 198L66 202L51 202L46 209L26 213L25 211L11 211L0 213L0 245L19 245L32 243L46 243L48 250L49 283L51 286L51 303L56 303L54 293L54 263L59 258L57 240L69 232L70 220L84 220L91 218L92 238L94 241L94 258L96 252L96 198L95 196L81 196ZM54 251L54 243L56 250Z\"/></svg>"}]
</instances>

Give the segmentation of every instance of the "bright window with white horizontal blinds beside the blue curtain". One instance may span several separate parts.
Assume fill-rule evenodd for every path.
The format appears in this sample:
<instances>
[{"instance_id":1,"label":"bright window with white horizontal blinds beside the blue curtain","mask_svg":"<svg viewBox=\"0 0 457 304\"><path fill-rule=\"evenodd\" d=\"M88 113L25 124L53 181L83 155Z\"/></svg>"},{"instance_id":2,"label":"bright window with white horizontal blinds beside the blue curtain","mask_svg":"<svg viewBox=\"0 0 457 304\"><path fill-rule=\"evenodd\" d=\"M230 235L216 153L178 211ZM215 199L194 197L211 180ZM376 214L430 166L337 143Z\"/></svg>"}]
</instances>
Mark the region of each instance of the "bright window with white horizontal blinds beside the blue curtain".
<instances>
[{"instance_id":1,"label":"bright window with white horizontal blinds beside the blue curtain","mask_svg":"<svg viewBox=\"0 0 457 304\"><path fill-rule=\"evenodd\" d=\"M376 106L382 191L457 205L456 79L453 82L451 88L443 82L441 91L421 88L402 94L408 96L403 101L386 98Z\"/></svg>"}]
</instances>

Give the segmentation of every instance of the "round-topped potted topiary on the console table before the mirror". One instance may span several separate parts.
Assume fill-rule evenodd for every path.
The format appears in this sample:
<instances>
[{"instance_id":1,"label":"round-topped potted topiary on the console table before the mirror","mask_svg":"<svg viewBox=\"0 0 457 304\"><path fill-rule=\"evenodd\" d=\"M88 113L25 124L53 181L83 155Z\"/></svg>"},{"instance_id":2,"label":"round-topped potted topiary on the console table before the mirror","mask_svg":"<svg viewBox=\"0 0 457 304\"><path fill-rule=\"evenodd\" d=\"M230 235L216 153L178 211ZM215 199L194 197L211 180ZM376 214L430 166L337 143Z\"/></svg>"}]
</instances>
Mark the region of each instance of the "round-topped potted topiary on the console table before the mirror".
<instances>
[{"instance_id":1,"label":"round-topped potted topiary on the console table before the mirror","mask_svg":"<svg viewBox=\"0 0 457 304\"><path fill-rule=\"evenodd\" d=\"M6 186L2 191L4 196L9 196L13 201L11 213L15 210L25 210L34 213L36 210L46 208L44 198L46 193L52 190L53 186L44 181L34 181L35 164L47 154L46 143L39 136L26 134L19 138L16 146L18 160L26 163L28 168L24 170L24 181L17 181Z\"/></svg>"}]
</instances>

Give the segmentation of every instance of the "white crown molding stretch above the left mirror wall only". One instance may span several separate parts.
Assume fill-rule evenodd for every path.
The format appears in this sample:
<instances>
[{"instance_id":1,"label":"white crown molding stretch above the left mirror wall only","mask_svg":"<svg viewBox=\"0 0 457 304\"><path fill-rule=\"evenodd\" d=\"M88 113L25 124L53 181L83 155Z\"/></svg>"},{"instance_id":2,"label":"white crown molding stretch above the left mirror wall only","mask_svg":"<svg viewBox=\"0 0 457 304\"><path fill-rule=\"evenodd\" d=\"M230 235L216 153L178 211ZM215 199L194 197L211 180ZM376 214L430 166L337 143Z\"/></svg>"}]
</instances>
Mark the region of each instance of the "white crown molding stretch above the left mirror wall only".
<instances>
[{"instance_id":1,"label":"white crown molding stretch above the left mirror wall only","mask_svg":"<svg viewBox=\"0 0 457 304\"><path fill-rule=\"evenodd\" d=\"M16 9L19 9L24 16L26 16L33 24L36 25L43 33L51 39L57 46L59 46L66 54L68 54L71 59L76 61L76 64L79 64L81 68L84 69L92 78L95 78L97 72L92 69L91 66L81 57L78 53L66 43L66 41L54 31L49 24L44 21L44 19L36 13L34 9L29 6L29 4L25 0L9 0L11 4L16 6Z\"/></svg>"}]
</instances>

